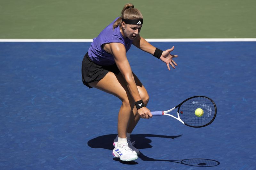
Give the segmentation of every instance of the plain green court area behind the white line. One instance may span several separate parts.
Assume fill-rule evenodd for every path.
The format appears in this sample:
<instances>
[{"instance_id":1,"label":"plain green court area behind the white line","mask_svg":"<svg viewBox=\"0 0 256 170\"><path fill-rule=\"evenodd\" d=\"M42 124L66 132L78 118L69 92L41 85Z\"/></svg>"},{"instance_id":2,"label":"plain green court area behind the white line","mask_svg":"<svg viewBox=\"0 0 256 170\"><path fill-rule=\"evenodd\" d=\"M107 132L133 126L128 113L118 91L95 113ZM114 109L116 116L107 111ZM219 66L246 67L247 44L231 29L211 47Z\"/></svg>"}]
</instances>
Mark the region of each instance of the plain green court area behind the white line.
<instances>
[{"instance_id":1,"label":"plain green court area behind the white line","mask_svg":"<svg viewBox=\"0 0 256 170\"><path fill-rule=\"evenodd\" d=\"M145 38L256 38L255 0L130 0ZM126 0L0 1L0 38L94 38Z\"/></svg>"}]
</instances>

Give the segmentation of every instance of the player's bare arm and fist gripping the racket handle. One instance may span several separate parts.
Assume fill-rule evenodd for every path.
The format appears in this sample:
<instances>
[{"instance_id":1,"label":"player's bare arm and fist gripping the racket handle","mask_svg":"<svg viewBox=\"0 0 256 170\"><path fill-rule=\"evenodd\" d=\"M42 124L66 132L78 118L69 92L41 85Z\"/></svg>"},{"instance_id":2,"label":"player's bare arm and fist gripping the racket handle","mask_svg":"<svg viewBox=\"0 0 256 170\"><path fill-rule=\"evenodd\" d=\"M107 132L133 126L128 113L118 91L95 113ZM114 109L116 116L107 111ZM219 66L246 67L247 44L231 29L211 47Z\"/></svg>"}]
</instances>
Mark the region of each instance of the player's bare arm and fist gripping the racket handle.
<instances>
[{"instance_id":1,"label":"player's bare arm and fist gripping the racket handle","mask_svg":"<svg viewBox=\"0 0 256 170\"><path fill-rule=\"evenodd\" d=\"M133 100L135 102L141 100L137 85L132 74L131 66L126 57L126 49L124 45L121 43L109 43L105 44L104 50L114 56L116 65L120 70L121 74L123 75L124 80L126 81L128 90ZM141 118L152 117L147 107L140 108L138 110L138 113Z\"/></svg>"}]
</instances>

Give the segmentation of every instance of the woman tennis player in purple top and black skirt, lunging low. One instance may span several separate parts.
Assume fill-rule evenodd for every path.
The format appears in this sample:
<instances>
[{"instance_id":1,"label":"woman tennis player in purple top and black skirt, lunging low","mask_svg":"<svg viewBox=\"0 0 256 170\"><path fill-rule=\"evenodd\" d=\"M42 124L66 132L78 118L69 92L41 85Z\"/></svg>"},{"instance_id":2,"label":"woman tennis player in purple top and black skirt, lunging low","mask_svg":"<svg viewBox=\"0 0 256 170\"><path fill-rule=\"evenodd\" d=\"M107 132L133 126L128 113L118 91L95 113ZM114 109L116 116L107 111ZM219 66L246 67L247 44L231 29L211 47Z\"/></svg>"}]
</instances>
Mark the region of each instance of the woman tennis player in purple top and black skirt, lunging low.
<instances>
[{"instance_id":1,"label":"woman tennis player in purple top and black skirt, lunging low","mask_svg":"<svg viewBox=\"0 0 256 170\"><path fill-rule=\"evenodd\" d=\"M112 154L123 161L138 159L139 150L133 146L130 134L140 118L151 118L146 107L149 96L138 77L132 72L126 52L133 44L175 68L172 60L178 55L171 55L174 49L162 51L140 37L143 17L132 4L126 4L121 17L116 18L98 37L93 39L91 46L82 62L82 80L89 88L95 87L113 94L122 101L118 113L117 137ZM175 66L174 66L175 65Z\"/></svg>"}]
</instances>

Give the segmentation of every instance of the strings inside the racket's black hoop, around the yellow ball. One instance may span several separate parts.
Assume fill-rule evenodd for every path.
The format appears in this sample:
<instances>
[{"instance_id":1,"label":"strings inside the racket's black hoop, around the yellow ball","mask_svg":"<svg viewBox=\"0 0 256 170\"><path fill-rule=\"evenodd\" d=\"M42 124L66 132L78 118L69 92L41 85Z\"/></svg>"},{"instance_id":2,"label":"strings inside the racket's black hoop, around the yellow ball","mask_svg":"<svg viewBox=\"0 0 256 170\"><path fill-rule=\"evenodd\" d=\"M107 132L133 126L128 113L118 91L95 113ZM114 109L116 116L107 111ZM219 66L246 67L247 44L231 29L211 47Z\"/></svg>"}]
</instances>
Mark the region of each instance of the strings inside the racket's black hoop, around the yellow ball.
<instances>
[{"instance_id":1,"label":"strings inside the racket's black hoop, around the yellow ball","mask_svg":"<svg viewBox=\"0 0 256 170\"><path fill-rule=\"evenodd\" d=\"M201 117L195 115L195 110L201 108L204 114ZM185 101L179 108L180 119L189 126L200 127L212 121L215 116L214 103L205 97L195 97Z\"/></svg>"}]
</instances>

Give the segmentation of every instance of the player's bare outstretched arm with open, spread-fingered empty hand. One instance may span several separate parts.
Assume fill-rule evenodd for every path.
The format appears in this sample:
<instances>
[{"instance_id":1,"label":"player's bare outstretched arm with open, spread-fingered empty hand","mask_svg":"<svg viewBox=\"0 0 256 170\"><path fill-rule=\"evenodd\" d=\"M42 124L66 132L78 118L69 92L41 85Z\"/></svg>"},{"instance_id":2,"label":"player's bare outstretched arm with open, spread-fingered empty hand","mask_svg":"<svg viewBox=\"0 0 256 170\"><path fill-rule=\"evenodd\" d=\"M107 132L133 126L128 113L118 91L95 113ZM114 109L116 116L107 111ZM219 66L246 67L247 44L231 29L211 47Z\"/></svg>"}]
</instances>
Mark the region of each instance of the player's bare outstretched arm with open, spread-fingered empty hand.
<instances>
[{"instance_id":1,"label":"player's bare outstretched arm with open, spread-fingered empty hand","mask_svg":"<svg viewBox=\"0 0 256 170\"><path fill-rule=\"evenodd\" d=\"M152 54L152 55L156 51L156 47L152 46L148 41L146 41L144 38L140 37L140 35L138 35L136 37L136 39L132 41L132 44L134 46L136 46L137 48L140 48L141 50L143 50L143 51L145 51L145 52L147 52L149 54ZM166 63L168 70L171 70L170 69L170 65L172 66L173 69L175 69L175 66L177 66L175 61L172 60L173 57L178 57L178 55L172 55L171 54L171 51L173 49L174 49L174 46L172 46L172 48L170 48L170 49L167 49L167 50L163 51L162 55L159 58L164 63Z\"/></svg>"}]
</instances>

